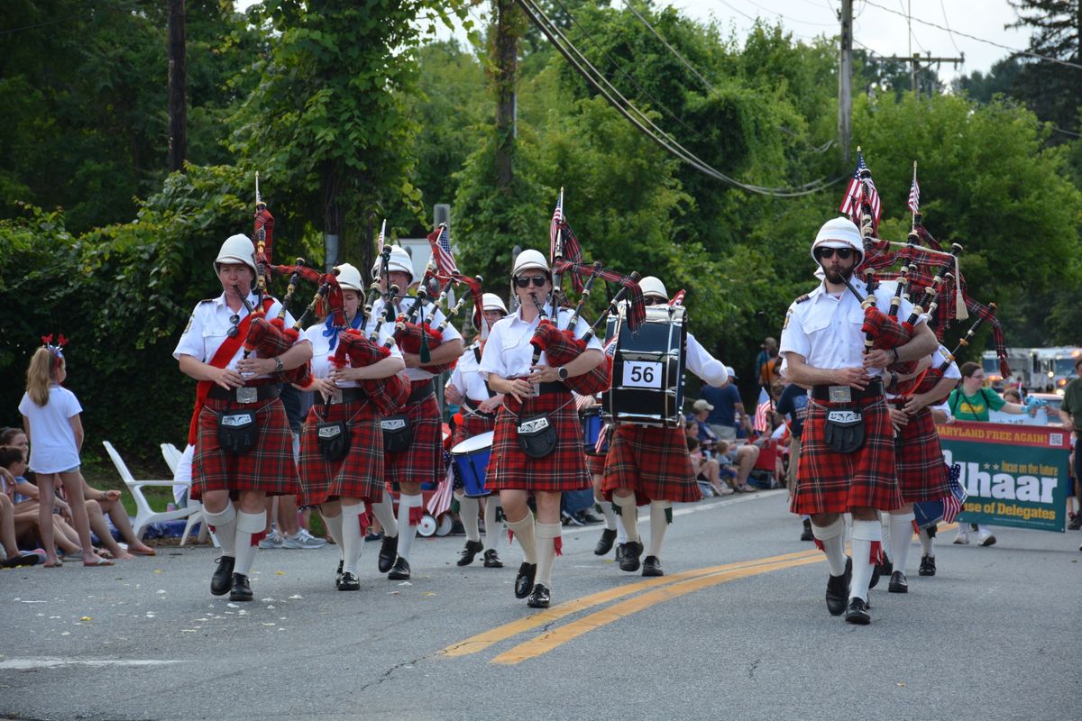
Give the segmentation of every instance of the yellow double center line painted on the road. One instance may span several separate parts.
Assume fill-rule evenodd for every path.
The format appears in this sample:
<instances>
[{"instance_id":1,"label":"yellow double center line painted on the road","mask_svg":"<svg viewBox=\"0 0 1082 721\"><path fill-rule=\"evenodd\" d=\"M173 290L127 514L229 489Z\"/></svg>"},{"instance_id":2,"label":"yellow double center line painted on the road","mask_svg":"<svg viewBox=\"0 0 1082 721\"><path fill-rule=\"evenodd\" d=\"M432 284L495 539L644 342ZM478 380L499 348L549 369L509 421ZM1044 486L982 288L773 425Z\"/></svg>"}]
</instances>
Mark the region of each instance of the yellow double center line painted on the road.
<instances>
[{"instance_id":1,"label":"yellow double center line painted on the road","mask_svg":"<svg viewBox=\"0 0 1082 721\"><path fill-rule=\"evenodd\" d=\"M769 558L756 559L754 561L741 561L738 563L726 563L707 569L696 569L685 571L672 576L661 578L650 578L633 584L626 584L598 593L583 596L582 598L560 603L552 609L546 609L540 613L513 620L502 626L489 629L477 636L473 636L464 641L451 644L444 649L443 653L448 656L467 656L478 653L488 646L518 636L526 631L546 626L571 614L579 613L586 609L608 603L617 599L634 596L639 591L647 591L635 598L625 599L607 609L597 611L588 616L583 616L569 624L565 624L535 639L518 644L492 659L493 664L518 664L527 658L533 658L547 653L556 646L582 636L583 633L601 628L606 624L630 616L633 613L648 609L649 606L670 601L674 598L697 591L718 584L724 584L738 578L745 578L761 573L769 573L781 569L791 569L808 563L818 563L823 560L820 551L812 549L797 553L784 553ZM652 589L652 590L651 590Z\"/></svg>"}]
</instances>

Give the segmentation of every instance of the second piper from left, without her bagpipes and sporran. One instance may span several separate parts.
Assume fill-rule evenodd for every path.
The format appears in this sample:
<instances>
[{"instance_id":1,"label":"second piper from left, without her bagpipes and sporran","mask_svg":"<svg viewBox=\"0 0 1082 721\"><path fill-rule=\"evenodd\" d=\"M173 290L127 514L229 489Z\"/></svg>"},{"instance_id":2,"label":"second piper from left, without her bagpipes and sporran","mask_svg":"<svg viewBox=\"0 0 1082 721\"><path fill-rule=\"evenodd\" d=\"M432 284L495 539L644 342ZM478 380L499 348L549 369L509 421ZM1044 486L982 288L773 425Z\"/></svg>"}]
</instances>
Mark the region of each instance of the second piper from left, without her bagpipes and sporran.
<instances>
[{"instance_id":1,"label":"second piper from left, without her bagpipes and sporran","mask_svg":"<svg viewBox=\"0 0 1082 721\"><path fill-rule=\"evenodd\" d=\"M358 311L364 293L360 271L348 263L340 265L338 270L346 325L364 329L365 313ZM332 322L328 317L326 324L317 323L304 332L312 343L315 376L308 390L317 391L320 398L308 411L301 439L301 504L319 506L324 523L338 544L341 556L335 586L340 591L356 591L360 589L357 562L364 547L360 519L365 504L379 502L386 493L380 414L358 382L391 377L404 371L406 362L398 347L392 344L391 355L371 365L335 369L330 359L342 329L333 328ZM387 333L381 329L375 343L382 345L386 339ZM342 458L329 460L319 448L316 425L340 420L346 423L348 451Z\"/></svg>"}]
</instances>

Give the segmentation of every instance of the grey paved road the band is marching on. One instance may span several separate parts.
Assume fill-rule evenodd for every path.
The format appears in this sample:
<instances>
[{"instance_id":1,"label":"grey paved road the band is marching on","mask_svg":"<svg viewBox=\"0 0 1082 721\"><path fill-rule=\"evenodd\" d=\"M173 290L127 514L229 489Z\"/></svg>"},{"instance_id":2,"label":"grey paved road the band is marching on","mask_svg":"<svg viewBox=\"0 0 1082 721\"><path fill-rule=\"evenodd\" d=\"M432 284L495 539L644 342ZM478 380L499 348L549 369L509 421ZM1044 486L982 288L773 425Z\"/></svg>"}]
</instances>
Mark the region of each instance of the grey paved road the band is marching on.
<instances>
[{"instance_id":1,"label":"grey paved road the band is marching on","mask_svg":"<svg viewBox=\"0 0 1082 721\"><path fill-rule=\"evenodd\" d=\"M462 570L461 537L419 539L406 585L368 544L358 593L333 589L334 548L261 551L239 607L208 593L207 547L0 572L0 718L1078 718L1078 532L940 545L934 578L914 546L869 627L827 614L779 492L677 509L660 579L595 557L597 526L565 533L533 614L517 549Z\"/></svg>"}]
</instances>

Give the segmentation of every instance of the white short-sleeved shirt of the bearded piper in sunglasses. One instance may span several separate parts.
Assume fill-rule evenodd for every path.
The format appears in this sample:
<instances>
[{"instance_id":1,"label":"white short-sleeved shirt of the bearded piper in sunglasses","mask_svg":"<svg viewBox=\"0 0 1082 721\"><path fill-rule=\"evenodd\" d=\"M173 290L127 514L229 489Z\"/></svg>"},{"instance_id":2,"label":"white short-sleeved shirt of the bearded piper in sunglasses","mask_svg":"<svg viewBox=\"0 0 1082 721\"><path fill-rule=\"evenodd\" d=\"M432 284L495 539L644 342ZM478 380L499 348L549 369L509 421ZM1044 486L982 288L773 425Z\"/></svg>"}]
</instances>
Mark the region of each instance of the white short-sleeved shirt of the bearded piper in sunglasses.
<instances>
[{"instance_id":1,"label":"white short-sleeved shirt of the bearded piper in sunglasses","mask_svg":"<svg viewBox=\"0 0 1082 721\"><path fill-rule=\"evenodd\" d=\"M853 278L853 286L867 294L863 281ZM875 289L875 307L884 313L890 308L895 283L887 281ZM902 301L898 317L908 319L913 306ZM916 323L924 321L921 317ZM824 283L808 294L806 301L793 302L786 313L778 351L800 353L808 365L821 369L859 368L863 362L865 334L860 326L865 311L857 297L846 289L840 296L827 292ZM868 369L868 375L882 375L882 369Z\"/></svg>"}]
</instances>

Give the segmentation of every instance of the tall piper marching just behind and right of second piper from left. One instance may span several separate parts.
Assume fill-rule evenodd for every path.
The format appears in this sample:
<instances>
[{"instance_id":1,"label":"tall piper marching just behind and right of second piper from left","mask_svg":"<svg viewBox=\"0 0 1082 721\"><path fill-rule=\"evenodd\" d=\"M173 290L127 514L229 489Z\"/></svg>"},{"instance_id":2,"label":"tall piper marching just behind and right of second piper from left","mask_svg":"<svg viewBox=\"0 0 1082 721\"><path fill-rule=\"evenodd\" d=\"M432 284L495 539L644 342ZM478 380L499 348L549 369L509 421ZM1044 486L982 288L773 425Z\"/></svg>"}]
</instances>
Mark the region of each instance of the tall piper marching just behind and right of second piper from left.
<instances>
[{"instance_id":1,"label":"tall piper marching just behind and right of second piper from left","mask_svg":"<svg viewBox=\"0 0 1082 721\"><path fill-rule=\"evenodd\" d=\"M405 250L393 248L386 262L373 268L373 276L377 275L390 299L378 299L372 305L372 317L394 317L395 338L406 361L410 392L406 402L382 422L385 478L400 491L398 518L391 512L390 494L373 505L373 512L383 525L380 573L387 573L393 580L406 580L410 577L410 548L424 517L421 484L438 485L446 475L443 416L433 377L453 366L463 346L454 325L424 296L427 273L418 291L419 297L406 296L413 282L413 262ZM443 330L437 330L437 325Z\"/></svg>"}]
</instances>

